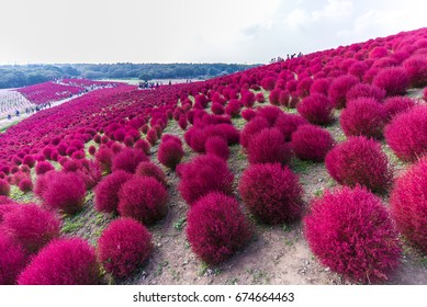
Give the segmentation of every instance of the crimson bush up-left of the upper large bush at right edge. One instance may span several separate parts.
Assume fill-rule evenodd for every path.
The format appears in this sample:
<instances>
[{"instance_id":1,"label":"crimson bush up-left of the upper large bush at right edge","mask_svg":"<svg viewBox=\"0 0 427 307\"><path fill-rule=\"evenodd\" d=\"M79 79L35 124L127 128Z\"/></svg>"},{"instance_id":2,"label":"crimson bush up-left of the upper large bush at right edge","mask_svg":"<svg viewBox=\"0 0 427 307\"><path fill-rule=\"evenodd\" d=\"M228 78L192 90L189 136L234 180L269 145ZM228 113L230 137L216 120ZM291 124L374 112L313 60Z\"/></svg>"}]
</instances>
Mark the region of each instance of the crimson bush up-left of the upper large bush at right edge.
<instances>
[{"instance_id":1,"label":"crimson bush up-left of the upper large bush at right edge","mask_svg":"<svg viewBox=\"0 0 427 307\"><path fill-rule=\"evenodd\" d=\"M364 135L381 138L386 116L386 111L378 101L370 98L359 98L347 103L339 123L346 136Z\"/></svg>"}]
</instances>

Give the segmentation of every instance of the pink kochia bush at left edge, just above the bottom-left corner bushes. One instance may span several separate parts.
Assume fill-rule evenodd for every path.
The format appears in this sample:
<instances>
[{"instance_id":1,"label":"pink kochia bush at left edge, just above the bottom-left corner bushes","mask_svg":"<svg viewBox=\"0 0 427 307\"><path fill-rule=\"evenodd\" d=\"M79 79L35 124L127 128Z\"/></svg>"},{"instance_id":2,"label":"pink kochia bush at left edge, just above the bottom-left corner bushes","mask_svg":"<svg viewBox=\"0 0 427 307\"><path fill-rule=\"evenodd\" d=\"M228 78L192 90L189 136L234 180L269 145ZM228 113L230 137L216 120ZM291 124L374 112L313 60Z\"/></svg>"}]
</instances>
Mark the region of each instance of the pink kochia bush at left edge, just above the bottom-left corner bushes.
<instances>
[{"instance_id":1,"label":"pink kochia bush at left edge, just above the bottom-left corner bushes","mask_svg":"<svg viewBox=\"0 0 427 307\"><path fill-rule=\"evenodd\" d=\"M2 227L27 253L36 253L59 237L59 219L37 205L18 205L3 216Z\"/></svg>"}]
</instances>

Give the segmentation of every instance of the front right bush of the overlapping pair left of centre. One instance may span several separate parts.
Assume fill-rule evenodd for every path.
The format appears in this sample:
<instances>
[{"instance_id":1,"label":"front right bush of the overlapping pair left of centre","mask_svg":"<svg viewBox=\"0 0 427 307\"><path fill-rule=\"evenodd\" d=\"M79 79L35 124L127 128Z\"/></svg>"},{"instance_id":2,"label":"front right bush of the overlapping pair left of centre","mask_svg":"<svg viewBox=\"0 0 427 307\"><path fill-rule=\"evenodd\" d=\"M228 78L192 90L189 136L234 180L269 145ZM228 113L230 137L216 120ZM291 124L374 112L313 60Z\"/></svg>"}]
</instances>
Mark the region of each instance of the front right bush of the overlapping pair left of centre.
<instances>
[{"instance_id":1,"label":"front right bush of the overlapping pair left of centre","mask_svg":"<svg viewBox=\"0 0 427 307\"><path fill-rule=\"evenodd\" d=\"M145 225L154 224L168 213L168 192L150 177L134 177L119 191L119 213Z\"/></svg>"}]
</instances>

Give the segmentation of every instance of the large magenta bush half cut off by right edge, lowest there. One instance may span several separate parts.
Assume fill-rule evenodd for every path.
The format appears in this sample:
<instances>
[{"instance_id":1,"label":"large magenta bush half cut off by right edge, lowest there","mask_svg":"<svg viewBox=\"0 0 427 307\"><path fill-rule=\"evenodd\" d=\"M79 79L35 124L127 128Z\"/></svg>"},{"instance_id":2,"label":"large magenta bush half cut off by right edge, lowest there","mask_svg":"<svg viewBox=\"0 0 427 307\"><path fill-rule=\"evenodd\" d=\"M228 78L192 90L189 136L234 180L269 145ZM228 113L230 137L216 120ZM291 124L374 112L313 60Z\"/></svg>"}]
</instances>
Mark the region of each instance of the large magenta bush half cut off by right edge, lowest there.
<instances>
[{"instance_id":1,"label":"large magenta bush half cut off by right edge, lowest there","mask_svg":"<svg viewBox=\"0 0 427 307\"><path fill-rule=\"evenodd\" d=\"M400 177L391 194L392 215L402 234L427 252L427 158Z\"/></svg>"}]
</instances>

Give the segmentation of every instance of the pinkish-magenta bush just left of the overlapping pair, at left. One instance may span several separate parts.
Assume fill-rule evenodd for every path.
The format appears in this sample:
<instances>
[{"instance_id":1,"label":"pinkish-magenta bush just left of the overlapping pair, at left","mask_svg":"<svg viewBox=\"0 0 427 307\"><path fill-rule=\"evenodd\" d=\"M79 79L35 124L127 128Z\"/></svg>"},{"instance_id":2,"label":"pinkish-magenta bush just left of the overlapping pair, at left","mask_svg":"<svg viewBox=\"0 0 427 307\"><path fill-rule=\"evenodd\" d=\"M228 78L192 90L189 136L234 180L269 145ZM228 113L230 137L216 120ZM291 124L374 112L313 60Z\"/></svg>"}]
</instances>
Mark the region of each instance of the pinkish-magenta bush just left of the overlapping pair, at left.
<instances>
[{"instance_id":1,"label":"pinkish-magenta bush just left of the overlapping pair, at left","mask_svg":"<svg viewBox=\"0 0 427 307\"><path fill-rule=\"evenodd\" d=\"M42 193L43 205L49 209L58 209L64 214L75 214L83 207L85 182L74 172L52 171L47 174L45 190Z\"/></svg>"}]
</instances>

